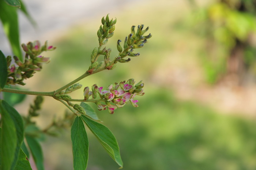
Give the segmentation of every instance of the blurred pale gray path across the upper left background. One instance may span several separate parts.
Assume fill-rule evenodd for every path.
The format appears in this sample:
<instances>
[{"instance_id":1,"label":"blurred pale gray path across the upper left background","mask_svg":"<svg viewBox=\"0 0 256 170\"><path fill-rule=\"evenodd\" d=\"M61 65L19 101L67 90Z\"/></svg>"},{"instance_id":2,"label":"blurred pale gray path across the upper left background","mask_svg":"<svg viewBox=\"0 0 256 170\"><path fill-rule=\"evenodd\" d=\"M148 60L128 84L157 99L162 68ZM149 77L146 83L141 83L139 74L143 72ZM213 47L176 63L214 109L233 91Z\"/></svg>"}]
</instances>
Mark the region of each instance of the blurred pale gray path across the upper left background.
<instances>
[{"instance_id":1,"label":"blurred pale gray path across the upper left background","mask_svg":"<svg viewBox=\"0 0 256 170\"><path fill-rule=\"evenodd\" d=\"M26 43L40 39L45 41L44 35L48 32L68 28L78 23L83 18L92 18L101 14L105 16L111 10L116 10L124 5L132 7L136 2L143 0L23 0L27 10L37 22L34 29L27 18L19 15L20 42ZM1 26L1 23L0 23ZM12 55L10 45L0 27L0 50L7 55Z\"/></svg>"}]
</instances>

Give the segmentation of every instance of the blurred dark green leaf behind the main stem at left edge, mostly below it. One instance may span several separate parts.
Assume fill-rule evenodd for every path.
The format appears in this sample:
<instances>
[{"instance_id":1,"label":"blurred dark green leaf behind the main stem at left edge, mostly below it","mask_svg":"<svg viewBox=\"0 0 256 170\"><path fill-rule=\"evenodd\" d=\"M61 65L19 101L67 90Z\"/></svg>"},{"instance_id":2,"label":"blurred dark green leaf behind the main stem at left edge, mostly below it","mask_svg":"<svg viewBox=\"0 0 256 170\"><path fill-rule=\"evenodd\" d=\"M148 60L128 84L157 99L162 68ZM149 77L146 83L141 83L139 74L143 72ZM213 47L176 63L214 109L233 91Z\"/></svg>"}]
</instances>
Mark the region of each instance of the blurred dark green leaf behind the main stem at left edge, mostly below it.
<instances>
[{"instance_id":1,"label":"blurred dark green leaf behind the main stem at left edge, mostly below it","mask_svg":"<svg viewBox=\"0 0 256 170\"><path fill-rule=\"evenodd\" d=\"M7 88L14 88L12 86L5 86ZM18 87L15 87L14 89L21 90ZM9 103L9 105L14 106L20 102L22 102L26 95L25 94L16 94L16 93L11 93L11 92L2 92L4 96L4 100Z\"/></svg>"}]
</instances>

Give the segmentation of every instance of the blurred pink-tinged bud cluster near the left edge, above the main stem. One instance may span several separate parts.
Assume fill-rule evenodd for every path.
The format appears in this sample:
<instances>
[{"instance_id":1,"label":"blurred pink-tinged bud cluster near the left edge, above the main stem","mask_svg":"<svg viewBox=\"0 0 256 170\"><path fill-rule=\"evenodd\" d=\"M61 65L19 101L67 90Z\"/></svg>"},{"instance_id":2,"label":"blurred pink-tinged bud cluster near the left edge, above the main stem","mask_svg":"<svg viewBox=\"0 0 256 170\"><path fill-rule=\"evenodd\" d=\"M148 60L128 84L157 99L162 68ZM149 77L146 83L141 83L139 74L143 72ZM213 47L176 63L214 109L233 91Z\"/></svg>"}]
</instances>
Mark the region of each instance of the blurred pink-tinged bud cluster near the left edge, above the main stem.
<instances>
[{"instance_id":1,"label":"blurred pink-tinged bud cluster near the left edge, above the main stem","mask_svg":"<svg viewBox=\"0 0 256 170\"><path fill-rule=\"evenodd\" d=\"M24 79L31 78L35 71L41 71L42 64L49 63L50 58L40 56L44 51L54 50L55 47L48 46L47 41L44 45L40 45L39 41L22 44L23 50L26 52L25 61L22 62L18 57L14 56L15 64L11 65L12 58L7 56L8 79L7 84L25 85ZM18 66L17 66L18 65Z\"/></svg>"}]
</instances>

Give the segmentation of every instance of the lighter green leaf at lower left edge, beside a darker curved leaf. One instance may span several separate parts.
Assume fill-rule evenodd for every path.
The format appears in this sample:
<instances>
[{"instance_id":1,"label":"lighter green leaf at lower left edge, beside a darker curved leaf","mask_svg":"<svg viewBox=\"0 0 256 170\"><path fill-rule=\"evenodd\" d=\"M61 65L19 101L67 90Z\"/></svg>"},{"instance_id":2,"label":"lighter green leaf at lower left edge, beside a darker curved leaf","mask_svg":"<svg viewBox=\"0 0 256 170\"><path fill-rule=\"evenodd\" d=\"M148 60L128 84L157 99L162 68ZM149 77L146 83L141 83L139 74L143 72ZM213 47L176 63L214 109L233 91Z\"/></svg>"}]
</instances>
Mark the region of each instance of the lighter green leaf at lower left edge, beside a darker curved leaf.
<instances>
[{"instance_id":1,"label":"lighter green leaf at lower left edge, beside a darker curved leaf","mask_svg":"<svg viewBox=\"0 0 256 170\"><path fill-rule=\"evenodd\" d=\"M0 113L2 121L2 129L0 133L1 170L10 170L12 162L15 159L17 133L14 121L3 107L2 100L0 100Z\"/></svg>"}]
</instances>

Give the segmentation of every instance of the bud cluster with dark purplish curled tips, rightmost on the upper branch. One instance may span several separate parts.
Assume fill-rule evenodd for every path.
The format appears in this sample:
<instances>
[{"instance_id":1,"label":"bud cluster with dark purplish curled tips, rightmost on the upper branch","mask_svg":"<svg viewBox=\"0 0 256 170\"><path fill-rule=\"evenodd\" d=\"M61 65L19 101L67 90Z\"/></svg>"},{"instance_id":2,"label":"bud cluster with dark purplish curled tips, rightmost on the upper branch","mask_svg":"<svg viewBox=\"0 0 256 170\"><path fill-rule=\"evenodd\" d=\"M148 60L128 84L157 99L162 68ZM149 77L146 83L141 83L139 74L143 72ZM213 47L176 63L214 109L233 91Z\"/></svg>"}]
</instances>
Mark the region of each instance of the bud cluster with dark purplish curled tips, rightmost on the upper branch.
<instances>
[{"instance_id":1,"label":"bud cluster with dark purplish curled tips, rightmost on the upper branch","mask_svg":"<svg viewBox=\"0 0 256 170\"><path fill-rule=\"evenodd\" d=\"M117 50L119 52L118 57L117 57L117 61L120 63L127 63L129 61L131 61L131 58L128 58L127 60L123 59L126 56L130 56L130 57L137 57L140 55L140 53L133 53L133 50L136 48L142 48L144 46L145 43L147 43L147 39L151 38L152 35L148 34L146 36L143 36L144 33L146 33L149 29L149 27L147 27L146 29L144 29L144 25L138 25L138 29L135 33L135 26L131 27L131 34L128 35L128 37L125 37L124 40L124 49L121 47L120 42L121 40L118 39L117 41ZM116 61L116 62L117 62Z\"/></svg>"}]
</instances>

